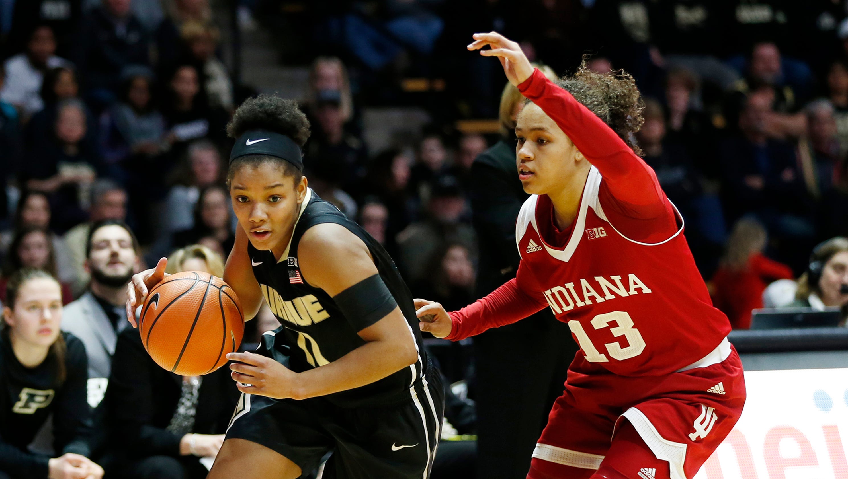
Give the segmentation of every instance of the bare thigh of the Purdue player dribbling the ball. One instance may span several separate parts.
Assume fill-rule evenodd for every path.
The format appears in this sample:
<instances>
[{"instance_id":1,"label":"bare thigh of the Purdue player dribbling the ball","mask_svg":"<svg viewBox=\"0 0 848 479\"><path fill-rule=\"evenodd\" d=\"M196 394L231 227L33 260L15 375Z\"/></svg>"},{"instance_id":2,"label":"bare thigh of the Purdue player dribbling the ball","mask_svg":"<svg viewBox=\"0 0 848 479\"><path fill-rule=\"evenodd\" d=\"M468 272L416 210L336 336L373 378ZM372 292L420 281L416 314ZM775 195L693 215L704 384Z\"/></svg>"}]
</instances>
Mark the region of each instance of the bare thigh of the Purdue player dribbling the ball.
<instances>
[{"instance_id":1,"label":"bare thigh of the Purdue player dribbling the ball","mask_svg":"<svg viewBox=\"0 0 848 479\"><path fill-rule=\"evenodd\" d=\"M295 479L300 466L271 448L246 439L227 439L206 479Z\"/></svg>"}]
</instances>

